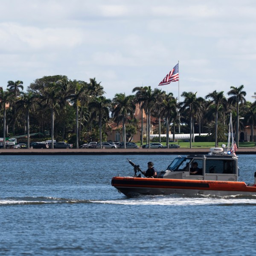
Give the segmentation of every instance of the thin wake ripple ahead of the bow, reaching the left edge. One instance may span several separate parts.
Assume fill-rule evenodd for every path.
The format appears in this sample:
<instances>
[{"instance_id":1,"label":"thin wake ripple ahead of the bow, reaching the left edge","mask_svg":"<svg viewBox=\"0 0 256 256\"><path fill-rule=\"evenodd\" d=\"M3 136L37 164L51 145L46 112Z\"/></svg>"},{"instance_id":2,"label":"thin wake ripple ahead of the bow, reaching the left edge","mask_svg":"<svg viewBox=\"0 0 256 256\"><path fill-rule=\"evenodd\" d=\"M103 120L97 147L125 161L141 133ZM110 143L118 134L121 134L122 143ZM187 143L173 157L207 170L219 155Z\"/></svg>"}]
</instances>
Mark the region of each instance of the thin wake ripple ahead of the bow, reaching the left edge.
<instances>
[{"instance_id":1,"label":"thin wake ripple ahead of the bow, reaching the left edge","mask_svg":"<svg viewBox=\"0 0 256 256\"><path fill-rule=\"evenodd\" d=\"M0 198L0 206L4 205L24 205L24 204L74 204L91 203L89 200L54 198L54 197L8 197Z\"/></svg>"}]
</instances>

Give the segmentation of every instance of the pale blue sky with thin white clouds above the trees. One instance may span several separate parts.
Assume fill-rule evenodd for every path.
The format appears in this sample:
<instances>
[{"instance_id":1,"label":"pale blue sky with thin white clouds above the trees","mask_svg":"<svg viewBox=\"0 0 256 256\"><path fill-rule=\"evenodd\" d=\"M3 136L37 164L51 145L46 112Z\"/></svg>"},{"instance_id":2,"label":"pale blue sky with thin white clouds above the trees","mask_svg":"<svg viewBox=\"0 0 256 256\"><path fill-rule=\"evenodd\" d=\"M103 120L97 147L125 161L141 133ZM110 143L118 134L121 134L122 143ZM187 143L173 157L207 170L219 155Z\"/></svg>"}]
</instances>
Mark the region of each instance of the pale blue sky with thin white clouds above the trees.
<instances>
[{"instance_id":1,"label":"pale blue sky with thin white clouds above the trees","mask_svg":"<svg viewBox=\"0 0 256 256\"><path fill-rule=\"evenodd\" d=\"M96 78L105 96L151 86L256 92L255 0L0 0L0 86ZM180 81L158 86L179 62ZM228 97L228 96L227 96Z\"/></svg>"}]
</instances>

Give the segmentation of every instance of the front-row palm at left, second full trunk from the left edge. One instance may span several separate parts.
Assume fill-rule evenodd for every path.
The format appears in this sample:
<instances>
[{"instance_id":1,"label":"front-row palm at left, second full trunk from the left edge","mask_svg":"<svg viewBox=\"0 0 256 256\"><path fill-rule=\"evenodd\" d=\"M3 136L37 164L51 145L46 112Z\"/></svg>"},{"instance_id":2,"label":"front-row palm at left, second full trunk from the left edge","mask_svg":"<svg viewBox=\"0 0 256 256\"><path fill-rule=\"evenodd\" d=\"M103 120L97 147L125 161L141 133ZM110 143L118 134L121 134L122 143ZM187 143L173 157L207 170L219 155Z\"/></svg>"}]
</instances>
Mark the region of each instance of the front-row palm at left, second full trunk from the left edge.
<instances>
[{"instance_id":1,"label":"front-row palm at left, second full trunk from the left edge","mask_svg":"<svg viewBox=\"0 0 256 256\"><path fill-rule=\"evenodd\" d=\"M29 113L35 105L36 94L29 91L23 93L21 98L17 101L18 108L24 108L26 111L26 130L27 130L27 148L29 148Z\"/></svg>"}]
</instances>

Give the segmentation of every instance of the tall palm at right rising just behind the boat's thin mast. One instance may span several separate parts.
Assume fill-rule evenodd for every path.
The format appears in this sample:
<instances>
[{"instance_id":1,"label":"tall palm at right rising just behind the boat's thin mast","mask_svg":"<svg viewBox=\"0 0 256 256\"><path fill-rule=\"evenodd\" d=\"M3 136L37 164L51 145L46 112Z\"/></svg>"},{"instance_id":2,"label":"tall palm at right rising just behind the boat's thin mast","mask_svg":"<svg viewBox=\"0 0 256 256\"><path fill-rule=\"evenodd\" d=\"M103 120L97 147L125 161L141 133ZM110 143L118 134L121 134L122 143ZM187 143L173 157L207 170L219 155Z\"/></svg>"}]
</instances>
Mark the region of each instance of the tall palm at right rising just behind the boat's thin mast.
<instances>
[{"instance_id":1,"label":"tall palm at right rising just behind the boat's thin mast","mask_svg":"<svg viewBox=\"0 0 256 256\"><path fill-rule=\"evenodd\" d=\"M239 87L230 87L230 91L227 92L227 95L231 95L228 98L228 102L236 105L236 145L239 148L239 103L244 104L246 99L246 92L243 90L244 85L240 85Z\"/></svg>"}]
</instances>

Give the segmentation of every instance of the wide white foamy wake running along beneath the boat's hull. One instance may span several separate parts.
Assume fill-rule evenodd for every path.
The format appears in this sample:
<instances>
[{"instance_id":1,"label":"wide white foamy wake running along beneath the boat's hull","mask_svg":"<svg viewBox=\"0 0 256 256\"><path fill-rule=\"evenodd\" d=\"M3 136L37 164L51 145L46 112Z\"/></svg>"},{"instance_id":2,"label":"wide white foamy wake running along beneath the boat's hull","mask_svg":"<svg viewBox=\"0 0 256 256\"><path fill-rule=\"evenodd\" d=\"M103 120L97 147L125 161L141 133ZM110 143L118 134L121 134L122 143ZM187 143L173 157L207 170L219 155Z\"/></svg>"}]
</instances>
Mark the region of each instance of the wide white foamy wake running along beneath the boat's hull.
<instances>
[{"instance_id":1,"label":"wide white foamy wake running along beneath the boat's hull","mask_svg":"<svg viewBox=\"0 0 256 256\"><path fill-rule=\"evenodd\" d=\"M94 201L92 201L94 202ZM212 196L212 195L145 195L138 198L121 198L108 201L97 201L104 204L125 204L125 205L252 205L256 206L256 195L244 196Z\"/></svg>"}]
</instances>

